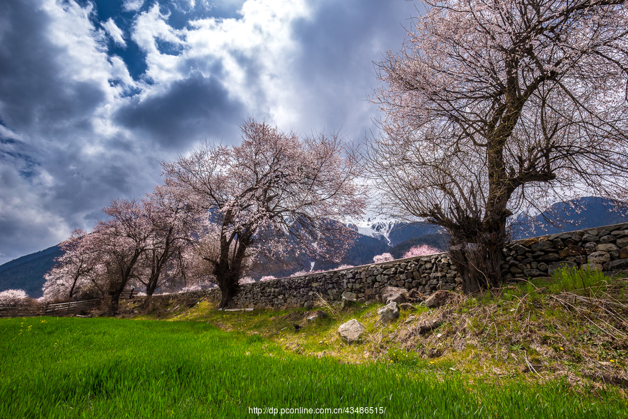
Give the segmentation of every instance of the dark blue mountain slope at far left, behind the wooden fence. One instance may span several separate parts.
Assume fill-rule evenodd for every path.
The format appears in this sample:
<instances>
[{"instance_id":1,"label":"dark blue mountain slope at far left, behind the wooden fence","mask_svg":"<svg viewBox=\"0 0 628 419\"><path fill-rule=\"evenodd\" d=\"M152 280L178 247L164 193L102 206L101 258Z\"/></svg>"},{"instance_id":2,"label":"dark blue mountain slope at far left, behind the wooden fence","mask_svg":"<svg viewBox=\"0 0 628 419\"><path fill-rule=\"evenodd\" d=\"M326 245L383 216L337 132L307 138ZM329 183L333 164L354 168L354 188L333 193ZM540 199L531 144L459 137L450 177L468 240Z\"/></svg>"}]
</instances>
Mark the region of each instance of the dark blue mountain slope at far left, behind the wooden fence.
<instances>
[{"instance_id":1,"label":"dark blue mountain slope at far left, behind the wooden fence","mask_svg":"<svg viewBox=\"0 0 628 419\"><path fill-rule=\"evenodd\" d=\"M62 253L58 246L53 246L0 265L0 291L17 288L26 291L31 298L41 297L43 276Z\"/></svg>"}]
</instances>

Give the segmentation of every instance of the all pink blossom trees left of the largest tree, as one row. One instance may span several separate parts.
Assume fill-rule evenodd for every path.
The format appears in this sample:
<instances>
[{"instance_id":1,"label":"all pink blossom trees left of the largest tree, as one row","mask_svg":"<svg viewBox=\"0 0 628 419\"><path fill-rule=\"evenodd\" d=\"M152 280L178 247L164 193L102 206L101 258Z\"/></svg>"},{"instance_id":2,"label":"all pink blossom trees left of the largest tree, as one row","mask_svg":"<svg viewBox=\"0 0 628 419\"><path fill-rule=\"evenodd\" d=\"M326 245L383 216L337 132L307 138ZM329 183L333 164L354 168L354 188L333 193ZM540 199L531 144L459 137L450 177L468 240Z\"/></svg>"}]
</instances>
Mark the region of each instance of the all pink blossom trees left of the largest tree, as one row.
<instances>
[{"instance_id":1,"label":"all pink blossom trees left of the largest tree, as one row","mask_svg":"<svg viewBox=\"0 0 628 419\"><path fill-rule=\"evenodd\" d=\"M47 299L124 288L211 282L230 307L240 280L297 256L340 261L355 233L340 220L364 210L359 165L335 136L299 138L248 119L240 145L204 145L162 163L165 184L140 200L113 200L91 233L77 230L46 275Z\"/></svg>"}]
</instances>

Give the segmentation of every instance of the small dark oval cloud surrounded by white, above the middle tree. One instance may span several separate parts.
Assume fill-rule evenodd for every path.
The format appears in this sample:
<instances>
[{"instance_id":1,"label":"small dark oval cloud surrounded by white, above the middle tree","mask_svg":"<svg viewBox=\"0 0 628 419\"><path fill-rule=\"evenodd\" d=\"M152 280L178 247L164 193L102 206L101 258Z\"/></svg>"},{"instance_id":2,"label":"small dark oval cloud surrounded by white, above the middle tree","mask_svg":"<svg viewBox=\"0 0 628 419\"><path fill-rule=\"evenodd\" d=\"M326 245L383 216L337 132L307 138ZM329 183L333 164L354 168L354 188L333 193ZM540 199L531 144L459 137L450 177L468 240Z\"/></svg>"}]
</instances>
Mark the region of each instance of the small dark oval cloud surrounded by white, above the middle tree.
<instances>
[{"instance_id":1,"label":"small dark oval cloud surrounded by white, above the middle tree","mask_svg":"<svg viewBox=\"0 0 628 419\"><path fill-rule=\"evenodd\" d=\"M246 116L244 106L214 76L193 73L173 82L163 94L140 101L134 98L121 107L115 119L124 126L144 131L151 140L175 152L208 136L232 140L237 124Z\"/></svg>"}]
</instances>

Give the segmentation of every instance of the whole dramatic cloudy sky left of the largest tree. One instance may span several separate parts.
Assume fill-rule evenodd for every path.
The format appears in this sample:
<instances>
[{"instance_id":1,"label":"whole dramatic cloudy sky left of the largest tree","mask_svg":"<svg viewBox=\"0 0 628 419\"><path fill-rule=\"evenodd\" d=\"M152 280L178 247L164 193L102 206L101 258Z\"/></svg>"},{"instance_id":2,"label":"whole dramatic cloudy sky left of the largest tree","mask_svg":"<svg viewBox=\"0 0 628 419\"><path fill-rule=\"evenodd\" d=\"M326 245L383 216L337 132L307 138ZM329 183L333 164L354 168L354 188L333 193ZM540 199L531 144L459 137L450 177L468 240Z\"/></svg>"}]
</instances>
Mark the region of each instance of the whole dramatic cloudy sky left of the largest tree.
<instances>
[{"instance_id":1,"label":"whole dramatic cloudy sky left of the largest tree","mask_svg":"<svg viewBox=\"0 0 628 419\"><path fill-rule=\"evenodd\" d=\"M308 134L375 128L373 61L405 0L3 0L0 263L90 229L159 161L239 141L246 117Z\"/></svg>"}]
</instances>

